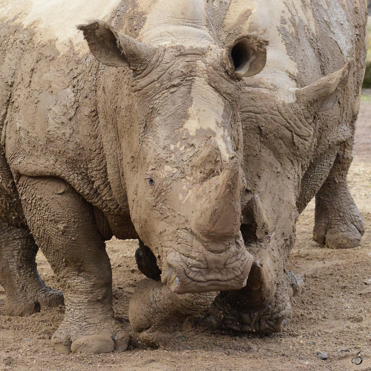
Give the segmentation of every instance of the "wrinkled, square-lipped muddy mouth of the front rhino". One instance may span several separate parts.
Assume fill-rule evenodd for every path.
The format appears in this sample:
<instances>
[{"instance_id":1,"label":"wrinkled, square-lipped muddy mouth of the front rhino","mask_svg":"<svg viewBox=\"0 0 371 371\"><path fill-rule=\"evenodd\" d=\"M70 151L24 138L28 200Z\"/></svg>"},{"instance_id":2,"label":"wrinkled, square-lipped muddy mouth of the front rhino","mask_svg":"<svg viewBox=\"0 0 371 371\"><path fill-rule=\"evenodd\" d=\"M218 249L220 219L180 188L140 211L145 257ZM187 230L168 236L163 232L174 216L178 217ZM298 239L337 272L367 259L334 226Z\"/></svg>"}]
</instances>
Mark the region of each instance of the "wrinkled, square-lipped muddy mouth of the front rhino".
<instances>
[{"instance_id":1,"label":"wrinkled, square-lipped muddy mouth of the front rhino","mask_svg":"<svg viewBox=\"0 0 371 371\"><path fill-rule=\"evenodd\" d=\"M166 243L161 281L173 292L239 290L246 285L253 256L246 250L242 236L230 241L219 253L207 250L195 236L192 242L178 244L176 250Z\"/></svg>"}]
</instances>

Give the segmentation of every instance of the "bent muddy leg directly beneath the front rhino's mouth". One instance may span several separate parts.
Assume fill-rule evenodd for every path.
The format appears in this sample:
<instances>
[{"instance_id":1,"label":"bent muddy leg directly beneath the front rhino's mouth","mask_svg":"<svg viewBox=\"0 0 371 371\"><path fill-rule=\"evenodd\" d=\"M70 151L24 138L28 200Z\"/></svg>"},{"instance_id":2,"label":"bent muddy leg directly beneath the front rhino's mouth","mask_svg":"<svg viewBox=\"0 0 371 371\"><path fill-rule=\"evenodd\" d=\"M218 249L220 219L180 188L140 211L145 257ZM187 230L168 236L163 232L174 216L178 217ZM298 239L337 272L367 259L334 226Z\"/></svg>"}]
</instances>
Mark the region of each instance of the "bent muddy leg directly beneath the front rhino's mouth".
<instances>
[{"instance_id":1,"label":"bent muddy leg directly beneath the front rhino's mouth","mask_svg":"<svg viewBox=\"0 0 371 371\"><path fill-rule=\"evenodd\" d=\"M185 319L207 309L217 294L178 295L161 282L146 278L139 282L129 303L131 327L139 332L139 342L164 344Z\"/></svg>"}]
</instances>

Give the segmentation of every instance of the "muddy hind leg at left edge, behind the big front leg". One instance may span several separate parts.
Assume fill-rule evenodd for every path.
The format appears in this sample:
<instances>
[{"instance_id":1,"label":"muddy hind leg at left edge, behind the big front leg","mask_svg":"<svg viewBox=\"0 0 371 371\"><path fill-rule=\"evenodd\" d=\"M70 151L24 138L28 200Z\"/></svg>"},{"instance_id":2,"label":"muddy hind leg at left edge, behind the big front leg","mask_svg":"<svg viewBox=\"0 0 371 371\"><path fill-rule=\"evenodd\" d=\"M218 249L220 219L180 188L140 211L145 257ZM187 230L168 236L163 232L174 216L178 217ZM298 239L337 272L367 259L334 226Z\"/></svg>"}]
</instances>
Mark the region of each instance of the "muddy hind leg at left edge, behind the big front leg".
<instances>
[{"instance_id":1,"label":"muddy hind leg at left edge, behind the big front leg","mask_svg":"<svg viewBox=\"0 0 371 371\"><path fill-rule=\"evenodd\" d=\"M0 283L6 290L3 313L26 316L41 306L63 304L63 294L45 286L36 269L35 240L28 230L0 222Z\"/></svg>"}]
</instances>

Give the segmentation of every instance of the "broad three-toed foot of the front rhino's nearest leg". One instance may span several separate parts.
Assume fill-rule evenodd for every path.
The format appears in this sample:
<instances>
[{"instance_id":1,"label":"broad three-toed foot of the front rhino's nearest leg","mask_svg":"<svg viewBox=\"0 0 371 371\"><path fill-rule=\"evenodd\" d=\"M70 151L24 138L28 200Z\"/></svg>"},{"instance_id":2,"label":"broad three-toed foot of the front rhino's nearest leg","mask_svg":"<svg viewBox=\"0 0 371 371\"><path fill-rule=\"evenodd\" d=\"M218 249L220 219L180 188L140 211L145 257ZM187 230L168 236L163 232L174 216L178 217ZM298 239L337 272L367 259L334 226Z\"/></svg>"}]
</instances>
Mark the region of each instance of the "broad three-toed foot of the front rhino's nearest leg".
<instances>
[{"instance_id":1,"label":"broad three-toed foot of the front rhino's nearest leg","mask_svg":"<svg viewBox=\"0 0 371 371\"><path fill-rule=\"evenodd\" d=\"M64 354L122 352L129 341L128 331L119 322L93 313L87 313L84 319L66 315L52 337L53 348Z\"/></svg>"}]
</instances>

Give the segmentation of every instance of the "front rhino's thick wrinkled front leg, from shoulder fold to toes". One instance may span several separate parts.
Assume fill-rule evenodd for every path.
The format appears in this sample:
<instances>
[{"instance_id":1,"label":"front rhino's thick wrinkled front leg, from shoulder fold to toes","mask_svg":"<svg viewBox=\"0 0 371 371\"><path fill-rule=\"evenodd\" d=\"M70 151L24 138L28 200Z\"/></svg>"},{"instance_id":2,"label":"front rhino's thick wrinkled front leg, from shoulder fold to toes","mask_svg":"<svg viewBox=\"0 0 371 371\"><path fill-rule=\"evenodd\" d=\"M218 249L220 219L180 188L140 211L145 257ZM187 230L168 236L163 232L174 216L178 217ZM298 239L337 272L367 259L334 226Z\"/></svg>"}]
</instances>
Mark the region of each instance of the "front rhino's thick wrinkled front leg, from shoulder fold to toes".
<instances>
[{"instance_id":1,"label":"front rhino's thick wrinkled front leg, from shoulder fold to toes","mask_svg":"<svg viewBox=\"0 0 371 371\"><path fill-rule=\"evenodd\" d=\"M91 204L59 178L21 176L18 189L30 230L64 292L54 349L125 350L129 338L114 320L111 265Z\"/></svg>"}]
</instances>

